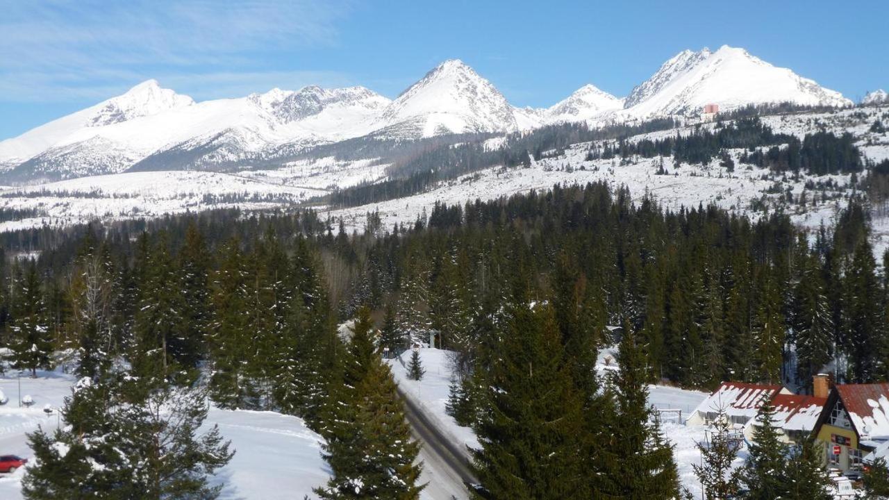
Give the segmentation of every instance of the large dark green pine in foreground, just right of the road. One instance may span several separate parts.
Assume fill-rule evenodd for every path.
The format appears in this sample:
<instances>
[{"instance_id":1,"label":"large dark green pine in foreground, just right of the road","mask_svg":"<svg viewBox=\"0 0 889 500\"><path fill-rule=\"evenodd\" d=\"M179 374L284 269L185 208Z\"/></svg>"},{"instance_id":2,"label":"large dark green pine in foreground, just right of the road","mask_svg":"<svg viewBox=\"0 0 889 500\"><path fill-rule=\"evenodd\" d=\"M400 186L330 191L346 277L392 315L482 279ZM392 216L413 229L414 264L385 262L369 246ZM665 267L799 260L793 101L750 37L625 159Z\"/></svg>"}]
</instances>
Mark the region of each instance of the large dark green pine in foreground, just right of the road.
<instances>
[{"instance_id":1,"label":"large dark green pine in foreground, just right of the road","mask_svg":"<svg viewBox=\"0 0 889 500\"><path fill-rule=\"evenodd\" d=\"M483 448L473 468L493 498L585 498L581 401L552 311L520 302L505 314L498 359L485 374Z\"/></svg>"}]
</instances>

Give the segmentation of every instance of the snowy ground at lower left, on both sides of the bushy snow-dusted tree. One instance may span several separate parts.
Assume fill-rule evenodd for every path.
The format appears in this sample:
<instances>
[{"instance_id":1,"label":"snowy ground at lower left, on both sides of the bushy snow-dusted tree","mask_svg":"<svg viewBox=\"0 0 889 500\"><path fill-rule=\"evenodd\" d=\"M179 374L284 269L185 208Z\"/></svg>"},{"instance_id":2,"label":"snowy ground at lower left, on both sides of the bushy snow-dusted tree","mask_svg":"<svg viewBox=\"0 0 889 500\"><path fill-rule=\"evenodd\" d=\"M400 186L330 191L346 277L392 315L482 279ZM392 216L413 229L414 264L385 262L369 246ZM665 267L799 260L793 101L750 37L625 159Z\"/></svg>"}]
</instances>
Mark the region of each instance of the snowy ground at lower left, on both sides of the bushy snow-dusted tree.
<instances>
[{"instance_id":1,"label":"snowy ground at lower left, on both sides of the bushy snow-dusted tree","mask_svg":"<svg viewBox=\"0 0 889 500\"><path fill-rule=\"evenodd\" d=\"M0 406L0 455L33 458L27 433L38 426L52 431L58 419L46 415L44 406L61 407L70 395L76 379L60 372L38 372L18 379L12 372L0 377L0 390L9 401ZM19 407L21 395L30 395L34 405ZM212 407L204 430L213 424L236 450L231 462L217 472L214 482L224 483L223 500L284 500L312 494L322 486L330 471L321 456L321 437L308 430L295 416L275 412L223 410ZM20 469L12 475L0 474L0 498L17 500L21 496Z\"/></svg>"}]
</instances>

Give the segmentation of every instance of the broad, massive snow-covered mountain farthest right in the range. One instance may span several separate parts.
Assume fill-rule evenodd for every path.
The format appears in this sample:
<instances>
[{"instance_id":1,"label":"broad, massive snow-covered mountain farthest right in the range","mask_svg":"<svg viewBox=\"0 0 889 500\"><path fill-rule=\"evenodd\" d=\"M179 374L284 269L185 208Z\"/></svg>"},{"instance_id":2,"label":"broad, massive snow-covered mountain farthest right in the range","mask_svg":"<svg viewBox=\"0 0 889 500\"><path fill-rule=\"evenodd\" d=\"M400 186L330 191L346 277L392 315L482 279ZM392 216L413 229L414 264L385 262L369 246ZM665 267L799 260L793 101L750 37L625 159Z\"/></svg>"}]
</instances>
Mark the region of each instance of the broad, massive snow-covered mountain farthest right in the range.
<instances>
[{"instance_id":1,"label":"broad, massive snow-covered mountain farthest right in the range","mask_svg":"<svg viewBox=\"0 0 889 500\"><path fill-rule=\"evenodd\" d=\"M699 112L714 103L721 110L747 104L795 102L847 106L852 101L785 68L758 59L744 49L723 45L716 52L684 51L633 89L624 102L632 117Z\"/></svg>"}]
</instances>

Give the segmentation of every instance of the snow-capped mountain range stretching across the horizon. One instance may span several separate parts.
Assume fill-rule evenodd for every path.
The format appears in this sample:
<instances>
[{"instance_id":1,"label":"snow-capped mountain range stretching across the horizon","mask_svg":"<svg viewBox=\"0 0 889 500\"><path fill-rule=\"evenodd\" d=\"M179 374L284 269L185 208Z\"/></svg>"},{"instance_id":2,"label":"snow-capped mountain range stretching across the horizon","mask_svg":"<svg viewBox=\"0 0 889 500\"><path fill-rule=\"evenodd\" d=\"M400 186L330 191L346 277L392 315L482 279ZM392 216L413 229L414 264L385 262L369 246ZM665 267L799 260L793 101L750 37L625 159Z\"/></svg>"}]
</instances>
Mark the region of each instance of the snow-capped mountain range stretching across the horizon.
<instances>
[{"instance_id":1,"label":"snow-capped mountain range stretching across the horizon","mask_svg":"<svg viewBox=\"0 0 889 500\"><path fill-rule=\"evenodd\" d=\"M0 141L0 176L9 183L135 170L243 168L284 157L282 151L363 136L409 140L511 133L560 122L595 125L696 115L709 103L727 110L775 102L852 105L813 80L729 46L680 52L625 99L584 85L547 109L514 107L460 60L441 63L394 100L361 86L310 85L196 102L148 80Z\"/></svg>"}]
</instances>

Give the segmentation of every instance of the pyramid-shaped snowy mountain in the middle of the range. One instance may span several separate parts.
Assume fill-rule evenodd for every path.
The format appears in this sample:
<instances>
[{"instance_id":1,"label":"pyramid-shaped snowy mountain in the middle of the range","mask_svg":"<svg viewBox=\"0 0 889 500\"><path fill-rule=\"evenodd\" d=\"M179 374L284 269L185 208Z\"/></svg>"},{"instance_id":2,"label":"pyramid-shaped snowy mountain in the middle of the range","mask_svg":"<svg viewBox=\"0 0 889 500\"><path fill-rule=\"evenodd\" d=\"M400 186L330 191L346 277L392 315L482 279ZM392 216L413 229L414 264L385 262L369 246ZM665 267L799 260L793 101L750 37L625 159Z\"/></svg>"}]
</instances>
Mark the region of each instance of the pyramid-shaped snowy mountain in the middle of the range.
<instances>
[{"instance_id":1,"label":"pyramid-shaped snowy mountain in the middle of the range","mask_svg":"<svg viewBox=\"0 0 889 500\"><path fill-rule=\"evenodd\" d=\"M518 129L503 94L461 60L445 60L429 71L388 105L377 124L419 137Z\"/></svg>"}]
</instances>

